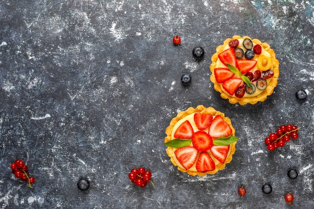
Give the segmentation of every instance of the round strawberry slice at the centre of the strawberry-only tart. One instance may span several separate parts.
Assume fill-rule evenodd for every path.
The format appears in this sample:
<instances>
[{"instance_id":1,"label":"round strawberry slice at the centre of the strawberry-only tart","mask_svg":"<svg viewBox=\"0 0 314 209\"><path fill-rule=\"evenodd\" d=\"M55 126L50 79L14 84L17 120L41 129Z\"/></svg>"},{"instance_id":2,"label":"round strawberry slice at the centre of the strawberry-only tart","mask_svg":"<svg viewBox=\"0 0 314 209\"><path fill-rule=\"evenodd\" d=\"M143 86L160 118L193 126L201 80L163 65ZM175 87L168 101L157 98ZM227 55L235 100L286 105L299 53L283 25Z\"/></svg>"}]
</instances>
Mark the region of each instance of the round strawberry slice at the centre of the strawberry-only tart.
<instances>
[{"instance_id":1,"label":"round strawberry slice at the centre of the strawberry-only tart","mask_svg":"<svg viewBox=\"0 0 314 209\"><path fill-rule=\"evenodd\" d=\"M213 139L205 131L197 131L192 135L192 143L197 150L206 151L213 146Z\"/></svg>"}]
</instances>

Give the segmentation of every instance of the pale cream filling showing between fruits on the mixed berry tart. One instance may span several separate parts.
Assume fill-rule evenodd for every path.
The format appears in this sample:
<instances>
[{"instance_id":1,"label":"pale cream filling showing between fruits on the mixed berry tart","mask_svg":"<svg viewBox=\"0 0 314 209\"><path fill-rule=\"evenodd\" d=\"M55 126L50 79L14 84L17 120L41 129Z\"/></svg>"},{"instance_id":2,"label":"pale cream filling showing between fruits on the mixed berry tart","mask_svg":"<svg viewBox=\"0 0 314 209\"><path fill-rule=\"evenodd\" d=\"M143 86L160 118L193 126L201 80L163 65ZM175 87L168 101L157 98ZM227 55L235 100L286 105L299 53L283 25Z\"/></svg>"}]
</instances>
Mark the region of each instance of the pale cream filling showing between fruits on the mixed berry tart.
<instances>
[{"instance_id":1,"label":"pale cream filling showing between fruits on the mixed berry tart","mask_svg":"<svg viewBox=\"0 0 314 209\"><path fill-rule=\"evenodd\" d=\"M238 48L241 48L243 50L243 52L245 53L245 51L247 50L245 47L243 47L243 41L244 39L238 39L239 40L239 45L238 45ZM255 46L256 44L253 43L253 47ZM227 44L226 47L224 48L223 51L229 49L229 45ZM253 50L253 48L251 49ZM266 57L271 57L270 54L262 47L262 53L260 55L255 55L254 58L252 60L256 60L259 58L259 56L261 55L264 55ZM245 60L245 57L243 56L241 59ZM221 61L220 59L218 58L217 62L216 62L216 68L227 68L227 66L225 66ZM273 66L271 66L270 68L271 70L273 69ZM255 67L250 70L250 72L252 72L254 74L254 71L258 70L258 67L257 67L257 64L255 65ZM240 78L240 76L238 75L235 75L234 76L235 78ZM267 84L269 84L271 78L269 79L266 79L267 81ZM252 84L255 85L256 87L256 81L255 82L252 82ZM227 95L230 95L228 92L226 92L226 90L222 87L222 83L219 84L220 85L220 88L222 89L223 92L225 92ZM260 93L262 93L263 90L259 90L258 88L256 88L256 91L254 92L254 94L247 94L246 92L244 93L244 96L243 97L254 97L256 95L259 95ZM234 95L231 95L232 97L236 97L235 94Z\"/></svg>"}]
</instances>

